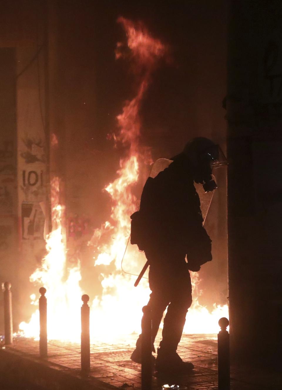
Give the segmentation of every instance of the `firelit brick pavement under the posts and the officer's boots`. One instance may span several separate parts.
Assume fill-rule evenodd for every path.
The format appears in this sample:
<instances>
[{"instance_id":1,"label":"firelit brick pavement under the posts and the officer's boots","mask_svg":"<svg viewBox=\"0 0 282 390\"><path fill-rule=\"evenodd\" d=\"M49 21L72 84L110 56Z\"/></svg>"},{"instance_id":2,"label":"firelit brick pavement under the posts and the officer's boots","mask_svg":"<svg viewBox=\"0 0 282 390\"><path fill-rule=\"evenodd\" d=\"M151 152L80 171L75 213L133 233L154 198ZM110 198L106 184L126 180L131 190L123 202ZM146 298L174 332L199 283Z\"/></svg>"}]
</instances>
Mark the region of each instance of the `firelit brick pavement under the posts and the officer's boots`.
<instances>
[{"instance_id":1,"label":"firelit brick pavement under the posts and the officer's boots","mask_svg":"<svg viewBox=\"0 0 282 390\"><path fill-rule=\"evenodd\" d=\"M141 388L141 366L130 360L134 349L136 335L120 344L96 343L91 345L90 376L115 388L127 390ZM157 342L159 340L157 339ZM157 345L157 342L155 345ZM38 358L39 342L30 339L17 338L7 349L25 353ZM217 341L216 335L183 335L178 347L178 353L183 360L194 364L195 369L184 376L153 375L153 389L162 389L162 386L179 385L180 389L204 390L217 389ZM65 372L79 374L80 371L80 345L49 341L49 364L60 366ZM238 369L236 369L238 371ZM240 370L239 370L240 371ZM231 390L276 390L278 382L263 384L262 378L257 380L254 374L252 380L249 375L238 374L231 370ZM251 377L251 376L250 376ZM265 379L265 378L264 378ZM279 386L279 385L278 385Z\"/></svg>"}]
</instances>

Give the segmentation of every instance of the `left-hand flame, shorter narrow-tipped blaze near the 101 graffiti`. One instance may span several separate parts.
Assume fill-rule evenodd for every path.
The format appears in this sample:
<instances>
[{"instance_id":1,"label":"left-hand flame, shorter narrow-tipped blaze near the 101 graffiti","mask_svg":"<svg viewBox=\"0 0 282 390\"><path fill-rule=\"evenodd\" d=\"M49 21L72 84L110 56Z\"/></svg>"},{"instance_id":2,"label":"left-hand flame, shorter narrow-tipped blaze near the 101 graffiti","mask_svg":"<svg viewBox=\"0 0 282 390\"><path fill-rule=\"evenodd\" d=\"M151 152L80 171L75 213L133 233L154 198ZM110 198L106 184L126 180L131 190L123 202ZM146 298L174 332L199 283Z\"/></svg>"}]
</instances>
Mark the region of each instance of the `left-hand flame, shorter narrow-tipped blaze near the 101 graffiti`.
<instances>
[{"instance_id":1,"label":"left-hand flame, shorter narrow-tipped blaze near the 101 graffiti","mask_svg":"<svg viewBox=\"0 0 282 390\"><path fill-rule=\"evenodd\" d=\"M44 285L47 290L48 338L79 341L81 324L76 308L81 306L80 267L79 264L72 268L67 268L66 265L66 248L61 224L64 207L59 204L59 193L60 181L58 177L54 177L51 181L53 231L46 239L48 254L44 257L42 266L31 275L30 281ZM34 294L30 298L33 305L38 304ZM28 324L22 322L19 329L26 337L38 338L39 310L32 315Z\"/></svg>"}]
</instances>

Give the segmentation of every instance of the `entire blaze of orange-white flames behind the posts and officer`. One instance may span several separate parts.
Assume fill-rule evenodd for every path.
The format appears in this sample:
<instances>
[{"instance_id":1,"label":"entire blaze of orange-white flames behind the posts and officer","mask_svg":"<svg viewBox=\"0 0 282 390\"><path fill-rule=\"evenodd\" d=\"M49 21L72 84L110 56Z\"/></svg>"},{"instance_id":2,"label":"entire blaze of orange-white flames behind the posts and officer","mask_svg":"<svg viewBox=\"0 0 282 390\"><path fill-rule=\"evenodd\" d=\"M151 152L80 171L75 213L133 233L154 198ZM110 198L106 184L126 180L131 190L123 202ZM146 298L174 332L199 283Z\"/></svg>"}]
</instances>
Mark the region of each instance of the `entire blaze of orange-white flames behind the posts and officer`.
<instances>
[{"instance_id":1,"label":"entire blaze of orange-white flames behind the posts and officer","mask_svg":"<svg viewBox=\"0 0 282 390\"><path fill-rule=\"evenodd\" d=\"M139 165L152 162L150 153L139 147L141 121L139 108L150 84L153 71L162 58L167 58L167 47L154 39L140 24L119 18L127 34L127 47L118 43L116 58L128 57L136 75L136 96L123 107L117 116L118 131L113 135L115 144L122 143L127 150L126 157L120 160L120 168L113 183L104 189L111 197L111 216L95 229L89 245L95 249L95 266L109 267L100 275L102 295L94 298L90 311L91 339L103 342L121 340L131 333L139 333L141 328L141 308L149 298L150 290L146 279L134 287L136 277L122 271L122 258L130 235L130 215L137 209L137 199L132 188L139 178ZM127 50L123 50L127 49ZM48 254L43 259L30 280L44 285L48 298L48 338L78 341L80 337L79 307L83 292L79 287L81 279L79 264L68 268L65 240L62 236L61 213L63 207L58 202L59 180L51 183L53 231L47 238ZM138 256L138 253L137 253ZM138 263L139 264L139 263ZM132 264L132 268L134 268ZM114 269L114 271L113 271ZM217 321L228 316L227 306L215 306L212 313L198 302L199 275L192 273L193 305L187 315L186 333L215 333ZM87 293L87 292L86 292ZM32 303L36 303L32 297ZM39 313L33 314L30 323L21 323L21 330L27 337L39 335Z\"/></svg>"}]
</instances>

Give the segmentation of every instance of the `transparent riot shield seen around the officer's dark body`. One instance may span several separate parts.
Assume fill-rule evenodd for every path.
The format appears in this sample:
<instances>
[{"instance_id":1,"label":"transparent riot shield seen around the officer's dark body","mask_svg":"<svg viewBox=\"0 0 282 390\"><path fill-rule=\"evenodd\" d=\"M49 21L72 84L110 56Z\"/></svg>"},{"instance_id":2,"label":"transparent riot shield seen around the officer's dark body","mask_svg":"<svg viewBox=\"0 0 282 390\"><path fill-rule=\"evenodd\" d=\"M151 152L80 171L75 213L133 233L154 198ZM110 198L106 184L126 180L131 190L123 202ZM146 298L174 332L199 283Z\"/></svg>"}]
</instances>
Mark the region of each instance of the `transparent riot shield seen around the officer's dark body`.
<instances>
[{"instance_id":1,"label":"transparent riot shield seen around the officer's dark body","mask_svg":"<svg viewBox=\"0 0 282 390\"><path fill-rule=\"evenodd\" d=\"M150 177L153 178L156 177L161 171L166 169L172 162L173 160L168 160L166 158L159 158L158 160L156 160L155 163L153 164ZM200 198L201 212L202 212L203 220L205 222L206 217L208 215L208 211L210 209L214 191L205 193L202 184L194 183L194 186ZM142 267L144 267L144 265L146 264L146 261L147 259L145 253L139 251L137 245L131 245L130 237L129 237L123 255L123 259L122 259L123 272L128 273L130 275L138 276ZM146 269L146 272L143 274L142 277L148 278L148 269Z\"/></svg>"}]
</instances>

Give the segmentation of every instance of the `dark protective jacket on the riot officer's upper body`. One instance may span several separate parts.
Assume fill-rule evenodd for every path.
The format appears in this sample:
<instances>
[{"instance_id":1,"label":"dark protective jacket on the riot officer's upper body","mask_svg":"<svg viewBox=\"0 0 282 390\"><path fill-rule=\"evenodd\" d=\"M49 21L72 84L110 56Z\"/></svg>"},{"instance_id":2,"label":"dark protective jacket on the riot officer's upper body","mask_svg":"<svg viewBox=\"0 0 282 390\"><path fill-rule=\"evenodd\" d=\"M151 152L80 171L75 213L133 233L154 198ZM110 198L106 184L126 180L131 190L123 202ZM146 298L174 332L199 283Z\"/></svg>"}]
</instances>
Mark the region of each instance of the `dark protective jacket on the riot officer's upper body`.
<instances>
[{"instance_id":1,"label":"dark protective jacket on the riot officer's upper body","mask_svg":"<svg viewBox=\"0 0 282 390\"><path fill-rule=\"evenodd\" d=\"M201 265L212 260L211 240L203 227L187 157L178 158L155 178L148 178L140 209L132 215L132 234L131 243L145 252L176 248L187 254L188 262Z\"/></svg>"}]
</instances>

